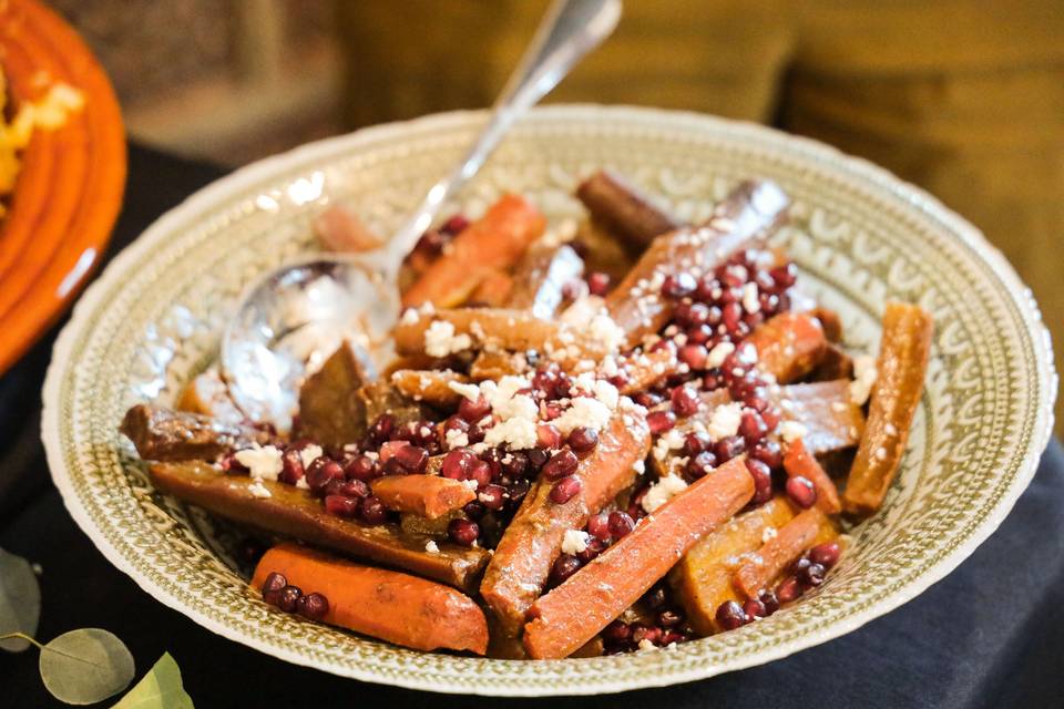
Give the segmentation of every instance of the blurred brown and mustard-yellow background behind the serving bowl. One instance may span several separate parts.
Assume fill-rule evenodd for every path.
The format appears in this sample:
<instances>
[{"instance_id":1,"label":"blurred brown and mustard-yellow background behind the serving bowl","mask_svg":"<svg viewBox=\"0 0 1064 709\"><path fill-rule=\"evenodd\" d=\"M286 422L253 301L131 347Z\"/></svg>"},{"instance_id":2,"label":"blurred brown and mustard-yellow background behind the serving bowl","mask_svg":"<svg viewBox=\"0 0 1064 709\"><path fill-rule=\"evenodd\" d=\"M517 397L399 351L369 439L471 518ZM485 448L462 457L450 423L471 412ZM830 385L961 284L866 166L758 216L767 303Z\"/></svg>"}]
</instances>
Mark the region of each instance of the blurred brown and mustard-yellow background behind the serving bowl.
<instances>
[{"instance_id":1,"label":"blurred brown and mustard-yellow background behind the serving bowl","mask_svg":"<svg viewBox=\"0 0 1064 709\"><path fill-rule=\"evenodd\" d=\"M546 0L52 4L110 71L134 140L235 166L488 105ZM1061 0L626 0L549 101L758 121L868 157L980 226L1064 342Z\"/></svg>"}]
</instances>

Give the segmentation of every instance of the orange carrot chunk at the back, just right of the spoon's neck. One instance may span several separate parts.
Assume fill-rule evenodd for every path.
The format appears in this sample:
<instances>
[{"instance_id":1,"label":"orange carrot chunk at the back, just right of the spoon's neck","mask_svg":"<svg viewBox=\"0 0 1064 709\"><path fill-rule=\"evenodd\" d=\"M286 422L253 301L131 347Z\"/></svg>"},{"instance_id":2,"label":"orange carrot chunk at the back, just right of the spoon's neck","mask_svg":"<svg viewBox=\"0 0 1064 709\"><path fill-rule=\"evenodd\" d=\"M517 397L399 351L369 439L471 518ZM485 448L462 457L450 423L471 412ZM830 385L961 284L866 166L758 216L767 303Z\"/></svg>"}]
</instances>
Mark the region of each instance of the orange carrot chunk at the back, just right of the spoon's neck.
<instances>
[{"instance_id":1,"label":"orange carrot chunk at the back, just right of the spoon's neck","mask_svg":"<svg viewBox=\"0 0 1064 709\"><path fill-rule=\"evenodd\" d=\"M402 295L402 305L461 304L492 270L513 266L545 227L546 219L530 202L504 195L454 237L447 253Z\"/></svg>"}]
</instances>

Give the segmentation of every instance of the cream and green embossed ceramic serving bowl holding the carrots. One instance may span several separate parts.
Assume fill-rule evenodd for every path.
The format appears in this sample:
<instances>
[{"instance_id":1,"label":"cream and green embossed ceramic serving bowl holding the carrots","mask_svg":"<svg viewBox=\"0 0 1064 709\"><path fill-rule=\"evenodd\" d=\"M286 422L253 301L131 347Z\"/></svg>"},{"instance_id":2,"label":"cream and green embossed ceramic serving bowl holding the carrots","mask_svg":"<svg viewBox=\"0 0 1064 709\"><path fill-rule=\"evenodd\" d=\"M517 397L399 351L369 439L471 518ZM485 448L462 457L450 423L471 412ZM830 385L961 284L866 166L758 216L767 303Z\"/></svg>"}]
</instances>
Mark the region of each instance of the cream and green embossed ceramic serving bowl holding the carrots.
<instances>
[{"instance_id":1,"label":"cream and green embossed ceramic serving bowl holding the carrots","mask_svg":"<svg viewBox=\"0 0 1064 709\"><path fill-rule=\"evenodd\" d=\"M708 677L848 633L942 578L1002 522L1048 440L1056 376L1030 291L975 228L808 140L686 113L553 106L507 138L456 208L477 215L513 191L552 219L579 217L574 184L608 166L697 220L736 182L767 177L795 201L776 240L806 288L840 311L849 347L877 350L888 299L934 315L927 390L883 510L794 607L664 650L556 661L416 653L256 598L239 531L153 491L119 435L122 414L139 401L172 403L211 363L241 291L314 249L310 222L325 205L349 205L389 233L484 117L383 125L241 169L160 218L82 298L44 386L48 460L71 515L147 593L219 635L337 675L447 692L595 693Z\"/></svg>"}]
</instances>

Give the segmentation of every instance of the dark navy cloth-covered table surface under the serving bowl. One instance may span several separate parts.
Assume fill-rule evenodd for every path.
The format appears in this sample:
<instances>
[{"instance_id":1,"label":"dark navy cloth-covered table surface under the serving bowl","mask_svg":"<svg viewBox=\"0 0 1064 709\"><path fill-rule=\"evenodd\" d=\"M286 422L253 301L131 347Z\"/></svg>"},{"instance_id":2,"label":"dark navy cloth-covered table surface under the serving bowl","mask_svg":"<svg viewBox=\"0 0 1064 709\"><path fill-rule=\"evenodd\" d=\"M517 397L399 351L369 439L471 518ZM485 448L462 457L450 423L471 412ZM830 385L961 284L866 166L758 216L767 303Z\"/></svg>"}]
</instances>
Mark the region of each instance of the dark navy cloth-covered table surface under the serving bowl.
<instances>
[{"instance_id":1,"label":"dark navy cloth-covered table surface under the serving bowl","mask_svg":"<svg viewBox=\"0 0 1064 709\"><path fill-rule=\"evenodd\" d=\"M113 256L223 171L132 146ZM100 627L142 675L164 653L198 707L1062 707L1064 452L1055 441L1001 528L942 582L842 638L764 667L598 698L485 700L368 685L287 665L212 635L113 568L66 514L40 444L40 389L55 331L0 379L0 547L38 563L38 637ZM37 653L0 653L9 707L58 705Z\"/></svg>"}]
</instances>

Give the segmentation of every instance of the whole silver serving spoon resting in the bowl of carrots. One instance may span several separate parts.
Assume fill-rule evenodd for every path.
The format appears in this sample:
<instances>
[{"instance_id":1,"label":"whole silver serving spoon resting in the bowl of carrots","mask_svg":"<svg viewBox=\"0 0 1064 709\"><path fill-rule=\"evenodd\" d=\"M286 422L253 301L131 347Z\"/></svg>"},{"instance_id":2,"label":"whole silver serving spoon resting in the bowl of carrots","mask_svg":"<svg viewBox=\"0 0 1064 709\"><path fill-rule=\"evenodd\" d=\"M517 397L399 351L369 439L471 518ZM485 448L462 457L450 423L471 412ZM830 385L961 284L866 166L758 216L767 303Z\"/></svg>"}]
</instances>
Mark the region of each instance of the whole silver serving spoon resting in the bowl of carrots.
<instances>
[{"instance_id":1,"label":"whole silver serving spoon resting in the bowl of carrots","mask_svg":"<svg viewBox=\"0 0 1064 709\"><path fill-rule=\"evenodd\" d=\"M399 317L397 282L406 255L513 123L601 44L620 18L621 0L555 0L475 143L386 246L288 264L249 289L222 337L223 373L248 417L287 429L305 371L344 338L367 362L387 361L387 333Z\"/></svg>"}]
</instances>

